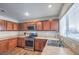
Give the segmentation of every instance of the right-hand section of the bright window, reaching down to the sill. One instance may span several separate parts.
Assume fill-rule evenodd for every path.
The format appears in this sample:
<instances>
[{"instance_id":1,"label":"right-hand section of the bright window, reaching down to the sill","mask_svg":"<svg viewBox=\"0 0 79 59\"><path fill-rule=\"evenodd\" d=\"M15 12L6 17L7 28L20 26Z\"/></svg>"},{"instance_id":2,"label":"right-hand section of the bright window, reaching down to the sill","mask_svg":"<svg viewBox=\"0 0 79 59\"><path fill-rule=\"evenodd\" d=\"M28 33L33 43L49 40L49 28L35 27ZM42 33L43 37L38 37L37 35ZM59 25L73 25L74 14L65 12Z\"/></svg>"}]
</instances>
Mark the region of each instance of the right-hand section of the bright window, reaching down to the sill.
<instances>
[{"instance_id":1,"label":"right-hand section of the bright window, reaching down to the sill","mask_svg":"<svg viewBox=\"0 0 79 59\"><path fill-rule=\"evenodd\" d=\"M74 4L67 14L68 31L67 35L70 38L79 39L79 4Z\"/></svg>"}]
</instances>

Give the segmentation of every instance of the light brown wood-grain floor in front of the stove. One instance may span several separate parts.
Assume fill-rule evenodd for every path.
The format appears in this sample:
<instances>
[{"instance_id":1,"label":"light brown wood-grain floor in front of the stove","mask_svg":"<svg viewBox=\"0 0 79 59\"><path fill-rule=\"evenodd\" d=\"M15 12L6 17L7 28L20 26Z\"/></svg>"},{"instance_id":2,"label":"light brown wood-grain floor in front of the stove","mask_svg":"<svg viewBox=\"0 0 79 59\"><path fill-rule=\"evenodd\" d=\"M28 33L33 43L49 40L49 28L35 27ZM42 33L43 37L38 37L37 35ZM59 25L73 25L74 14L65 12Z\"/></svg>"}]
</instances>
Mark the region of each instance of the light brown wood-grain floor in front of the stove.
<instances>
[{"instance_id":1,"label":"light brown wood-grain floor in front of the stove","mask_svg":"<svg viewBox=\"0 0 79 59\"><path fill-rule=\"evenodd\" d=\"M9 51L1 55L40 55L40 54L41 52L16 47L13 51Z\"/></svg>"}]
</instances>

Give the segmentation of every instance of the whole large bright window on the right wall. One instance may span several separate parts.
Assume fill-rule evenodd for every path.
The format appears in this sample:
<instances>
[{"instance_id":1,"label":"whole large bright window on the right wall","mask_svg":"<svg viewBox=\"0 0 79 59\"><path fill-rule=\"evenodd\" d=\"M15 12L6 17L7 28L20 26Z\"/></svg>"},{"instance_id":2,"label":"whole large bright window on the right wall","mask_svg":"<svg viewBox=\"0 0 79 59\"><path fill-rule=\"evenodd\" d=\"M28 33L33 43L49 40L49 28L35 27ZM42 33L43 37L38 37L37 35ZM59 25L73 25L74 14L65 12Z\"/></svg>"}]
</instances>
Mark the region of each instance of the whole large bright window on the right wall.
<instances>
[{"instance_id":1,"label":"whole large bright window on the right wall","mask_svg":"<svg viewBox=\"0 0 79 59\"><path fill-rule=\"evenodd\" d=\"M73 4L60 20L60 35L79 40L79 4Z\"/></svg>"}]
</instances>

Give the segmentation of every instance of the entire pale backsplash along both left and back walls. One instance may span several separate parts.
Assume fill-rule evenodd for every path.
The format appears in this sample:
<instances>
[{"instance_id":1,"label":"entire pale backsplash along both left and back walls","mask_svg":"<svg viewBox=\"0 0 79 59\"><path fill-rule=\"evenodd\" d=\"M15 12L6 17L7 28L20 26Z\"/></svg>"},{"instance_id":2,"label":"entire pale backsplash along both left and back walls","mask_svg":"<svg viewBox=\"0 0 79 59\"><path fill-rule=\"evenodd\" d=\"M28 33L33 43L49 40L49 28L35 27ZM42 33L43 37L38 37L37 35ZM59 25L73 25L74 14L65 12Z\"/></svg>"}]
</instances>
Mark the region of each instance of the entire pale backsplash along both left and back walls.
<instances>
[{"instance_id":1,"label":"entire pale backsplash along both left and back walls","mask_svg":"<svg viewBox=\"0 0 79 59\"><path fill-rule=\"evenodd\" d=\"M39 37L56 37L58 32L54 31L0 31L0 39L13 37L13 36L24 36L24 33L36 32Z\"/></svg>"}]
</instances>

